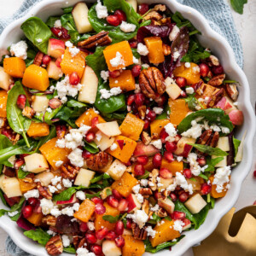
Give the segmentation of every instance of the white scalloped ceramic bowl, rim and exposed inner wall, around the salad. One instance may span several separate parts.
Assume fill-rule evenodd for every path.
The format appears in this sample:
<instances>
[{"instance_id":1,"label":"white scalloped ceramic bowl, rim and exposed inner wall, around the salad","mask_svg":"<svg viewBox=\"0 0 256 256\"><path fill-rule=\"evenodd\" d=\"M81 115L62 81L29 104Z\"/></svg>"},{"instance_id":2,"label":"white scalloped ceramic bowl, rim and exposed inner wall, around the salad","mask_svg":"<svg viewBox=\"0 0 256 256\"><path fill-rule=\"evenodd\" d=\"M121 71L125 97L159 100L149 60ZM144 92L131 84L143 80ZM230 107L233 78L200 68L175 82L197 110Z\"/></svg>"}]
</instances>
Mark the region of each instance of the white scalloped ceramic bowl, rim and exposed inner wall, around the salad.
<instances>
[{"instance_id":1,"label":"white scalloped ceramic bowl, rim and exposed inner wall, around the salad","mask_svg":"<svg viewBox=\"0 0 256 256\"><path fill-rule=\"evenodd\" d=\"M6 50L10 44L20 40L20 37L23 36L23 33L20 30L20 25L27 18L36 15L43 20L47 20L47 18L51 15L61 14L61 8L73 6L74 3L78 2L79 0L44 0L43 2L38 3L26 16L20 20L15 20L5 28L0 37L0 54L3 55L4 50ZM172 247L172 253L168 252L168 254L172 256L177 256L182 255L187 249L189 249L189 247L192 247L209 236L218 225L220 218L222 218L224 214L228 212L236 203L240 193L241 183L247 176L247 173L250 171L252 165L255 116L250 103L250 88L247 78L241 68L236 64L235 56L230 48L230 44L228 44L223 37L218 35L217 32L212 31L212 28L208 25L207 20L195 9L179 4L174 0L144 0L142 2L165 3L172 10L172 12L179 11L184 18L189 19L194 26L201 31L201 43L204 45L204 47L212 49L214 55L218 56L228 77L238 81L241 84L241 87L239 88L240 95L238 98L238 106L244 113L245 121L244 125L237 129L236 137L241 139L242 134L247 131L247 137L244 144L243 160L241 164L232 171L231 188L229 189L227 195L223 199L217 201L214 209L208 213L205 223L201 225L199 230L190 230L189 232L185 232L186 236L183 238L183 240L178 242L175 247ZM2 202L0 202L0 208L4 208ZM16 223L11 221L9 217L3 216L0 218L0 227L7 231L15 243L27 253L32 253L33 255L38 256L48 255L44 247L26 238ZM167 251L161 251L160 253L157 253L157 255L165 255L166 253ZM63 253L63 255L70 254ZM146 253L145 255L149 255L149 253Z\"/></svg>"}]
</instances>

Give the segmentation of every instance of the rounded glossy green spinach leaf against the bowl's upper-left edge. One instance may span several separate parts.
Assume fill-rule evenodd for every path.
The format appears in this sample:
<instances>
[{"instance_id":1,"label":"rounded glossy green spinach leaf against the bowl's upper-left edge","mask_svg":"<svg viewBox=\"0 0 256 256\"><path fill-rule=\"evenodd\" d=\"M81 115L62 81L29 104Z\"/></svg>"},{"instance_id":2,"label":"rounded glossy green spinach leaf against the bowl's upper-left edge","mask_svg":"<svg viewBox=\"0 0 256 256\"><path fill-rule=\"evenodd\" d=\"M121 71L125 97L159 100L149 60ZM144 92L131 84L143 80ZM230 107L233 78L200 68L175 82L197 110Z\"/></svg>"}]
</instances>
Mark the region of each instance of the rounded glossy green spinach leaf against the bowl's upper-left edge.
<instances>
[{"instance_id":1,"label":"rounded glossy green spinach leaf against the bowl's upper-left edge","mask_svg":"<svg viewBox=\"0 0 256 256\"><path fill-rule=\"evenodd\" d=\"M38 17L31 17L27 19L21 26L26 38L32 44L38 47L39 50L47 54L48 41L51 37L51 31L43 20Z\"/></svg>"}]
</instances>

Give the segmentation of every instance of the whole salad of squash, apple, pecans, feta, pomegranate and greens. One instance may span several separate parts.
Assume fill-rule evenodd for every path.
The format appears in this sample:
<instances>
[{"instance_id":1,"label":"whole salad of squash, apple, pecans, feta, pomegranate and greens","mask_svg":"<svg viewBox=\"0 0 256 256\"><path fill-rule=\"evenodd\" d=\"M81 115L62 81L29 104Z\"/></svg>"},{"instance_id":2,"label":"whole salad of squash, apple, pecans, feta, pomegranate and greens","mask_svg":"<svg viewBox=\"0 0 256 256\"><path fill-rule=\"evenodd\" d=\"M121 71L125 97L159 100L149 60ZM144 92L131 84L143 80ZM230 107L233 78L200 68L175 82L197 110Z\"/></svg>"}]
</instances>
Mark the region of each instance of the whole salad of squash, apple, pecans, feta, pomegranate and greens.
<instances>
[{"instance_id":1,"label":"whole salad of squash, apple, pecans, feta, pomegranate and greens","mask_svg":"<svg viewBox=\"0 0 256 256\"><path fill-rule=\"evenodd\" d=\"M0 67L0 210L49 255L143 255L199 229L243 140L237 83L164 4L26 20Z\"/></svg>"}]
</instances>

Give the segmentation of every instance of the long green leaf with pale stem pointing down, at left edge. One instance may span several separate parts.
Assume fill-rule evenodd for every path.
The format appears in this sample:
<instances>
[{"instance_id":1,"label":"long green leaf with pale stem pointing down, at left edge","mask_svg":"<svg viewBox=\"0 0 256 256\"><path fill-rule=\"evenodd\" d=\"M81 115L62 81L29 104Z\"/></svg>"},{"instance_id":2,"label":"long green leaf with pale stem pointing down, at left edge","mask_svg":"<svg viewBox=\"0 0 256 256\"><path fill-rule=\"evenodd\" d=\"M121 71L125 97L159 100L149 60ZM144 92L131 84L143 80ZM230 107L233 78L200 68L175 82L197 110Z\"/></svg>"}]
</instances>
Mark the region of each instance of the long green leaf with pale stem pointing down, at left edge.
<instances>
[{"instance_id":1,"label":"long green leaf with pale stem pointing down, at left edge","mask_svg":"<svg viewBox=\"0 0 256 256\"><path fill-rule=\"evenodd\" d=\"M31 119L27 119L25 116L23 116L22 110L18 108L16 104L18 96L20 96L20 94L26 94L26 92L23 89L20 81L17 81L15 83L15 86L11 90L9 90L6 107L7 119L9 121L10 127L15 132L22 134L24 140L26 141L27 147L30 147L26 137L26 131L31 125ZM28 101L26 101L26 106L29 106Z\"/></svg>"}]
</instances>

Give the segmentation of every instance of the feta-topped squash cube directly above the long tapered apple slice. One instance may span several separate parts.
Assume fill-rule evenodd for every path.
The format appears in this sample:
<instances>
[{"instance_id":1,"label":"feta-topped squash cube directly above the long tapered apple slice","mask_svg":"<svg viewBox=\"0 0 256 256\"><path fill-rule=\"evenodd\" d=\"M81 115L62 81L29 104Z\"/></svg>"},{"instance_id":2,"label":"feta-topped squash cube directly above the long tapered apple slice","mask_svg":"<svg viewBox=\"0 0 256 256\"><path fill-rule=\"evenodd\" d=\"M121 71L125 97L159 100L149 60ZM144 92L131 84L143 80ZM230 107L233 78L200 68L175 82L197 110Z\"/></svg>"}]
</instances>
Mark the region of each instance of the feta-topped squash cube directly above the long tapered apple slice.
<instances>
[{"instance_id":1,"label":"feta-topped squash cube directly above the long tapered apple slice","mask_svg":"<svg viewBox=\"0 0 256 256\"><path fill-rule=\"evenodd\" d=\"M69 48L65 49L63 59L61 61L62 72L66 75L70 75L73 72L78 73L79 78L82 79L84 68L85 68L85 57L86 54L84 51L79 51L77 55L72 55L69 51Z\"/></svg>"}]
</instances>

